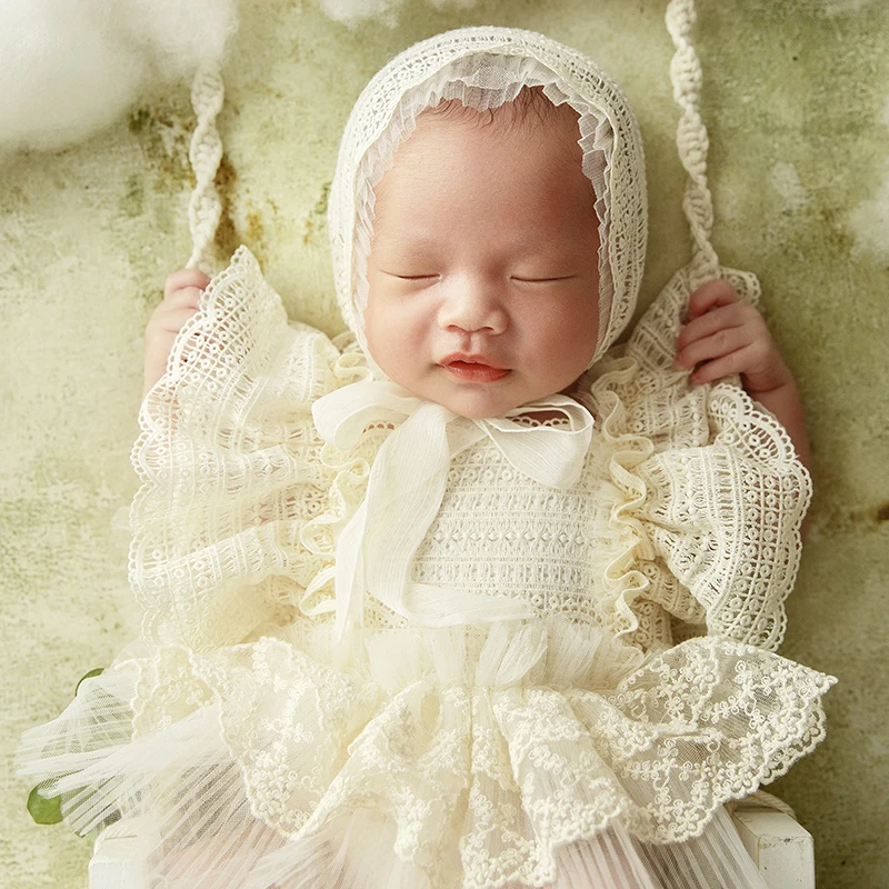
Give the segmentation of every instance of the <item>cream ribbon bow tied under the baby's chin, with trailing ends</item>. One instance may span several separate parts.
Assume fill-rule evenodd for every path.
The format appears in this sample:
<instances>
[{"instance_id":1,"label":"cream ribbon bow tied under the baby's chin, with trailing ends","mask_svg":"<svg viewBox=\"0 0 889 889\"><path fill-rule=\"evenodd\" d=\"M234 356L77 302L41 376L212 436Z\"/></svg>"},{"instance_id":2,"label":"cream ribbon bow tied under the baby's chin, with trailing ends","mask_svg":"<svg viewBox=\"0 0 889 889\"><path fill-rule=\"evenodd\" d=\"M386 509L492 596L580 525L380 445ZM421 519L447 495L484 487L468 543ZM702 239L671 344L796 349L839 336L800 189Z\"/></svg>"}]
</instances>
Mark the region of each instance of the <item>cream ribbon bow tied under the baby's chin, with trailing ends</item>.
<instances>
[{"instance_id":1,"label":"cream ribbon bow tied under the baby's chin, with trailing ends","mask_svg":"<svg viewBox=\"0 0 889 889\"><path fill-rule=\"evenodd\" d=\"M558 411L568 424L519 421L535 411ZM533 616L531 606L507 596L411 582L410 563L441 507L451 459L485 436L522 475L547 487L570 488L580 478L592 436L592 416L585 407L555 394L502 417L473 420L397 383L363 380L319 398L312 417L321 438L339 450L353 448L371 423L397 427L373 461L363 502L340 532L334 567L321 572L303 597L333 578L336 603L309 613L336 610L337 639L350 617L360 625L364 591L429 627Z\"/></svg>"}]
</instances>

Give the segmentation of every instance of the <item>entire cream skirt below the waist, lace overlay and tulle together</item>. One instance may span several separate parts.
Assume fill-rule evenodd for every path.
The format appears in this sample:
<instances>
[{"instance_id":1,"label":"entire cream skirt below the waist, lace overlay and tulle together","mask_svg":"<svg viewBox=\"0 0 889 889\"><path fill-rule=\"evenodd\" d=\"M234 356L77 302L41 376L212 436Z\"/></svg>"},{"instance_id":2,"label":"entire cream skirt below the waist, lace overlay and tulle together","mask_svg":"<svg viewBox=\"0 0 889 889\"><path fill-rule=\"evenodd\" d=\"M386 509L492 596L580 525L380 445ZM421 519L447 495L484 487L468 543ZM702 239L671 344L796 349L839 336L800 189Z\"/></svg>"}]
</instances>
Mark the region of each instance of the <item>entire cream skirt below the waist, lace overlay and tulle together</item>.
<instances>
[{"instance_id":1,"label":"entire cream skirt below the waist, lace overlay and tulle together","mask_svg":"<svg viewBox=\"0 0 889 889\"><path fill-rule=\"evenodd\" d=\"M759 886L722 805L820 740L821 673L565 620L303 626L81 685L19 760L157 886Z\"/></svg>"}]
</instances>

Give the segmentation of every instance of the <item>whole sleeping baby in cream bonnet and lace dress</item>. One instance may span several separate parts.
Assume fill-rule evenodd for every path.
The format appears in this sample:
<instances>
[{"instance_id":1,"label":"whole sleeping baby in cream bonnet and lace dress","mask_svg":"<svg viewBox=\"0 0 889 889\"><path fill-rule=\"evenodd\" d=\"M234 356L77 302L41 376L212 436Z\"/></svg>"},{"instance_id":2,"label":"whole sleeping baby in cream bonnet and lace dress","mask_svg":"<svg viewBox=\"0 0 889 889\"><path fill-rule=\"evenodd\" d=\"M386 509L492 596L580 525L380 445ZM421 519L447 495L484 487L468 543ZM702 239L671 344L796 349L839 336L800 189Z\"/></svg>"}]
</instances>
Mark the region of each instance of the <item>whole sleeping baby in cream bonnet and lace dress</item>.
<instances>
[{"instance_id":1,"label":"whole sleeping baby in cream bonnet and lace dress","mask_svg":"<svg viewBox=\"0 0 889 889\"><path fill-rule=\"evenodd\" d=\"M133 451L148 653L30 748L76 827L138 819L169 886L762 889L726 803L815 747L832 681L773 653L806 433L725 280L680 270L609 349L645 213L608 77L466 29L347 126L351 343L288 324L244 248L169 277ZM109 699L131 740L90 736Z\"/></svg>"}]
</instances>

